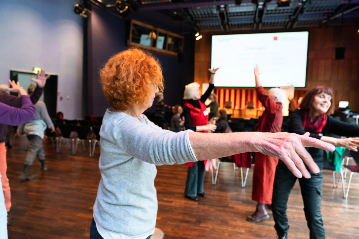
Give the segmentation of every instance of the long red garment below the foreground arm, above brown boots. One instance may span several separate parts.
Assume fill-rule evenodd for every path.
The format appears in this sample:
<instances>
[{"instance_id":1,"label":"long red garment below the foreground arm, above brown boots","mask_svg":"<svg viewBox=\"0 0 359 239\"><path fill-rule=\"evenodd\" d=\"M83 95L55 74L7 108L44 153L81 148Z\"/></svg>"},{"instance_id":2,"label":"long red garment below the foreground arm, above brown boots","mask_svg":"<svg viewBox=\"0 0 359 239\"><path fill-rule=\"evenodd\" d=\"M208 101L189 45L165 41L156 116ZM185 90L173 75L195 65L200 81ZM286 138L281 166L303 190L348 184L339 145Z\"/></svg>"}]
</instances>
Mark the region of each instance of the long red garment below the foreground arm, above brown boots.
<instances>
[{"instance_id":1,"label":"long red garment below the foreground arm, above brown boots","mask_svg":"<svg viewBox=\"0 0 359 239\"><path fill-rule=\"evenodd\" d=\"M252 200L261 204L272 204L273 183L278 160L258 152L255 153Z\"/></svg>"}]
</instances>

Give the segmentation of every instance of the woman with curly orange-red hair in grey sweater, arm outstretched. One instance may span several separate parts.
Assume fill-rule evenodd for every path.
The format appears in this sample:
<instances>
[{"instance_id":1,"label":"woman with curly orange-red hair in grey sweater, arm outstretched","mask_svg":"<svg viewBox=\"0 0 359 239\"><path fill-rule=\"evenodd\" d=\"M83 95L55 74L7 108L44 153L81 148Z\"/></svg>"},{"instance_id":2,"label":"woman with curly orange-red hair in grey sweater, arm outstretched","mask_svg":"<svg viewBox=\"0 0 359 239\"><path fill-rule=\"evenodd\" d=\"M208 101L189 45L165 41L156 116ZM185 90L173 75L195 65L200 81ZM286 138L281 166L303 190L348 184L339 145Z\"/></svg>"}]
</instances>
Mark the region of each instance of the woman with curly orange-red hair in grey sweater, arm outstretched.
<instances>
[{"instance_id":1,"label":"woman with curly orange-red hair in grey sweater, arm outstretched","mask_svg":"<svg viewBox=\"0 0 359 239\"><path fill-rule=\"evenodd\" d=\"M253 151L282 159L295 175L307 177L309 172L299 157L312 171L319 169L303 145L334 150L330 144L288 133L201 134L161 129L143 112L163 90L162 70L155 58L139 49L116 54L100 74L103 93L113 109L107 109L100 130L101 181L90 239L150 238L157 216L156 165Z\"/></svg>"}]
</instances>

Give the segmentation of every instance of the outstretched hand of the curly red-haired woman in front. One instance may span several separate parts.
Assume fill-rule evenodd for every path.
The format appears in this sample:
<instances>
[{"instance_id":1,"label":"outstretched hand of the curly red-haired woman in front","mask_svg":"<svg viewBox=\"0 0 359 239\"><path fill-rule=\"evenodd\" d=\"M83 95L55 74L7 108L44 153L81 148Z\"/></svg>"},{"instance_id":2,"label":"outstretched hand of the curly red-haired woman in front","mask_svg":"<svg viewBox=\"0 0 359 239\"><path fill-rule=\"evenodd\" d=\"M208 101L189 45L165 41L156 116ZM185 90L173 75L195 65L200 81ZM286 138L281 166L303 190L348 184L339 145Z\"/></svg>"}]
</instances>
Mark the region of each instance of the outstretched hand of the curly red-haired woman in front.
<instances>
[{"instance_id":1,"label":"outstretched hand of the curly red-haired woman in front","mask_svg":"<svg viewBox=\"0 0 359 239\"><path fill-rule=\"evenodd\" d=\"M308 132L304 135L285 132L262 133L257 142L260 144L258 147L260 153L280 159L298 178L311 177L304 163L313 173L320 172L318 165L304 147L315 147L327 151L335 150L334 145L311 138Z\"/></svg>"}]
</instances>

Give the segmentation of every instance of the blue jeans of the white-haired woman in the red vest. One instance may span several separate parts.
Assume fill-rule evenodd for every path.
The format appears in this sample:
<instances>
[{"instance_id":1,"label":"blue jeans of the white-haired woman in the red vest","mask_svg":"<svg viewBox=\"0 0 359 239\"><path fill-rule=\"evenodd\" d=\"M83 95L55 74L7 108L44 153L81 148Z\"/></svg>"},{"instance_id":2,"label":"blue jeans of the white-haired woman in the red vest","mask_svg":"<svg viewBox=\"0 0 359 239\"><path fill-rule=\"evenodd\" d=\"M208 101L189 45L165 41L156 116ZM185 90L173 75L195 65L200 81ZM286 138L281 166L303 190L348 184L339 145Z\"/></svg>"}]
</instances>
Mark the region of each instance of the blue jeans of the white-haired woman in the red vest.
<instances>
[{"instance_id":1,"label":"blue jeans of the white-haired woman in the red vest","mask_svg":"<svg viewBox=\"0 0 359 239\"><path fill-rule=\"evenodd\" d=\"M203 180L205 173L204 161L197 161L192 167L188 167L185 195L195 197L197 193L204 192Z\"/></svg>"}]
</instances>

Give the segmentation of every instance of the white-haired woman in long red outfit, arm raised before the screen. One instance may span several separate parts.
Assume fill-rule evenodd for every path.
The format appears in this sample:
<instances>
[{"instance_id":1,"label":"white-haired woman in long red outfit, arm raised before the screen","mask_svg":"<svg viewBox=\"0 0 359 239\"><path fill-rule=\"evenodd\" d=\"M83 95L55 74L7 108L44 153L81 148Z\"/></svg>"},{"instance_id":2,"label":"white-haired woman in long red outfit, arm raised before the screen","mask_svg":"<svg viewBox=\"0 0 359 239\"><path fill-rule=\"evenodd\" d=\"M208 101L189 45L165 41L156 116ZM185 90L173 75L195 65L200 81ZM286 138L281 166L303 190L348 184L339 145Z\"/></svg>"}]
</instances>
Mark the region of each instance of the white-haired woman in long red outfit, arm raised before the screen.
<instances>
[{"instance_id":1,"label":"white-haired woman in long red outfit, arm raised before the screen","mask_svg":"<svg viewBox=\"0 0 359 239\"><path fill-rule=\"evenodd\" d=\"M259 67L254 69L256 79L257 96L265 111L255 127L257 132L281 132L283 123L283 103L286 100L286 92L279 88L269 90L269 95L264 91L259 80ZM275 168L278 159L255 153L255 164L253 169L252 200L257 202L256 211L247 217L247 221L258 222L269 218L265 204L272 204L273 182Z\"/></svg>"}]
</instances>

